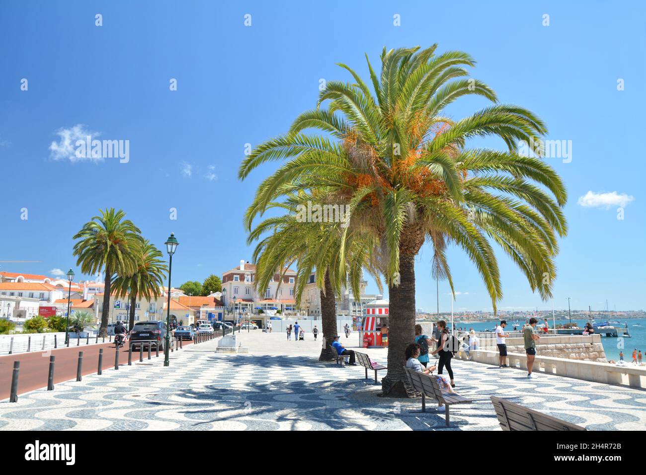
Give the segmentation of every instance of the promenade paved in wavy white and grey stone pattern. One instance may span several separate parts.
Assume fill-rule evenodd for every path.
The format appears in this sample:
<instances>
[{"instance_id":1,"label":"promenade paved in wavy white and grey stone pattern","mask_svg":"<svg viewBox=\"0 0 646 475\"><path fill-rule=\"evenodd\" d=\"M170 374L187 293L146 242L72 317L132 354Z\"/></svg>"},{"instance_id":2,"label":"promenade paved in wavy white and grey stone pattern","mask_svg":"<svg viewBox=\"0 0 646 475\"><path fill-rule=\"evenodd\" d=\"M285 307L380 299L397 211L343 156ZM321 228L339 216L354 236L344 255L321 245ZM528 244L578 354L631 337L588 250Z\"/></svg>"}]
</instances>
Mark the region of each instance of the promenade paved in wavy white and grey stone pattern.
<instances>
[{"instance_id":1,"label":"promenade paved in wavy white and grey stone pattern","mask_svg":"<svg viewBox=\"0 0 646 475\"><path fill-rule=\"evenodd\" d=\"M645 390L557 375L528 380L521 370L457 359L456 390L473 403L452 408L446 429L444 412L421 413L421 399L379 397L361 366L319 362L321 341L311 334L295 342L243 331L238 342L249 354L215 354L216 342L175 352L168 368L153 357L17 403L3 399L0 430L500 430L492 395L589 430L646 429ZM357 346L357 333L342 343ZM386 350L365 351L386 363Z\"/></svg>"}]
</instances>

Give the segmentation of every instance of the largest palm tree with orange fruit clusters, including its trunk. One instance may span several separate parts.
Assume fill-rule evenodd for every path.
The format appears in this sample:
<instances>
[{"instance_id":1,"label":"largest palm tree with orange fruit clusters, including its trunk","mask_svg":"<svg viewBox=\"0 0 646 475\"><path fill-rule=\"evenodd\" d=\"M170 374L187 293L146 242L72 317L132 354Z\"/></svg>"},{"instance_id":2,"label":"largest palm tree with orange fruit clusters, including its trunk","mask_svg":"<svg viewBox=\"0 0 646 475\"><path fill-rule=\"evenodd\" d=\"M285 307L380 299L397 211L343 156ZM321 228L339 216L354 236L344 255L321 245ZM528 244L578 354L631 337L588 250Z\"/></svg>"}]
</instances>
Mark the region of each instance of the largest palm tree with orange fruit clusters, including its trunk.
<instances>
[{"instance_id":1,"label":"largest palm tree with orange fruit clusters, including its trunk","mask_svg":"<svg viewBox=\"0 0 646 475\"><path fill-rule=\"evenodd\" d=\"M503 290L492 242L521 269L532 291L548 299L556 277L556 235L567 233L567 192L558 174L529 156L547 128L532 112L497 103L485 83L466 78L475 64L464 52L435 54L436 45L381 54L380 75L368 61L370 82L346 65L353 83L329 81L317 109L298 116L286 135L262 143L240 167L244 179L270 160L286 160L260 184L247 216L279 196L324 190L350 209L349 226L371 233L390 295L388 373L382 391L410 394L402 366L413 341L417 253L428 240L433 260L453 290L446 247L464 249L490 294L494 310ZM366 59L367 59L366 55ZM444 109L476 94L494 105L460 120ZM327 107L322 107L322 105ZM305 129L324 134L305 134ZM467 147L469 138L501 138L506 151ZM344 266L344 252L339 265Z\"/></svg>"}]
</instances>

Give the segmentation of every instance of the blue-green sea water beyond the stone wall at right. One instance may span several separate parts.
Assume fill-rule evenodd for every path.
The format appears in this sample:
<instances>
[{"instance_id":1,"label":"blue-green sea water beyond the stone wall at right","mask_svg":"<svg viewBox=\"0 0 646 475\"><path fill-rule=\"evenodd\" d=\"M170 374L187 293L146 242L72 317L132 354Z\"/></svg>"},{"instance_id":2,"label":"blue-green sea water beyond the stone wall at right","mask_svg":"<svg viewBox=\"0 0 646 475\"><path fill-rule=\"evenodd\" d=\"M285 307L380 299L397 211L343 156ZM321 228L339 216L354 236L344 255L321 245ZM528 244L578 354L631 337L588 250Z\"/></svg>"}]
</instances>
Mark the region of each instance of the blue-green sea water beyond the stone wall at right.
<instances>
[{"instance_id":1,"label":"blue-green sea water beyond the stone wall at right","mask_svg":"<svg viewBox=\"0 0 646 475\"><path fill-rule=\"evenodd\" d=\"M625 338L612 338L612 337L601 337L601 343L603 344L603 350L605 350L606 357L608 359L613 359L617 361L619 359L619 352L623 351L623 359L627 360L628 363L632 361L632 350L634 348L637 348L638 350L641 350L641 354L644 355L643 361L646 361L646 319L625 319L621 320L619 319L618 321L621 322L621 326L623 326L624 322L628 324L628 333L630 333L630 338L625 337ZM550 323L550 328L552 327L552 320L548 320ZM557 324L559 323L565 323L569 322L568 320L565 321L556 321ZM584 321L580 320L577 321L579 326L583 326L585 324ZM456 328L473 328L474 330L478 332L482 332L484 330L491 330L492 328L495 327L496 322L478 322L478 323L455 323ZM524 324L524 321L519 321L519 330L521 326ZM539 325L541 322L539 322ZM636 324L640 324L641 326L633 326ZM507 330L512 330L514 328L514 322L511 320L508 320L507 324Z\"/></svg>"}]
</instances>

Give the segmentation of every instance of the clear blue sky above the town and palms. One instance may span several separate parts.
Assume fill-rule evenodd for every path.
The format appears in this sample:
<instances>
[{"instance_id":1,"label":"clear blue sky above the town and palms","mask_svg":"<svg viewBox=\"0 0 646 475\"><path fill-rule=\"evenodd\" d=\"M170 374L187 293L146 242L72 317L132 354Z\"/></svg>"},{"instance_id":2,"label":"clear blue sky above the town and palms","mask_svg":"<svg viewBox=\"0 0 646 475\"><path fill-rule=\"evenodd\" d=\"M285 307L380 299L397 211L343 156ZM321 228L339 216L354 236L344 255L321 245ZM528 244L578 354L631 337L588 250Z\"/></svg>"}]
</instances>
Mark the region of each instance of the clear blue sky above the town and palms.
<instances>
[{"instance_id":1,"label":"clear blue sky above the town and palms","mask_svg":"<svg viewBox=\"0 0 646 475\"><path fill-rule=\"evenodd\" d=\"M573 308L603 308L605 299L611 310L646 307L645 166L635 145L646 105L643 3L231 4L0 3L0 260L41 261L4 262L2 270L79 272L72 235L105 207L122 208L160 248L176 234L174 284L251 259L242 215L276 164L241 183L245 143L285 132L315 105L319 79L350 80L335 63L366 76L364 52L377 64L384 45L439 43L440 51L474 56L473 76L501 101L536 112L549 139L572 141L570 162L549 159L569 193L556 308L567 308L567 297ZM103 26L95 25L96 14ZM401 26L393 25L395 14ZM28 90L21 90L23 78ZM169 90L172 78L176 91ZM485 106L469 98L448 113L461 118ZM58 132L79 124L99 139L129 140L129 162L69 160ZM589 191L590 206L578 204ZM416 265L417 307L426 310L436 304L431 257L432 249L422 248ZM455 308L490 309L463 253L452 249L449 257L460 292ZM552 308L505 256L499 261L499 308ZM376 291L372 282L368 290ZM440 309L450 310L446 284L440 293Z\"/></svg>"}]
</instances>

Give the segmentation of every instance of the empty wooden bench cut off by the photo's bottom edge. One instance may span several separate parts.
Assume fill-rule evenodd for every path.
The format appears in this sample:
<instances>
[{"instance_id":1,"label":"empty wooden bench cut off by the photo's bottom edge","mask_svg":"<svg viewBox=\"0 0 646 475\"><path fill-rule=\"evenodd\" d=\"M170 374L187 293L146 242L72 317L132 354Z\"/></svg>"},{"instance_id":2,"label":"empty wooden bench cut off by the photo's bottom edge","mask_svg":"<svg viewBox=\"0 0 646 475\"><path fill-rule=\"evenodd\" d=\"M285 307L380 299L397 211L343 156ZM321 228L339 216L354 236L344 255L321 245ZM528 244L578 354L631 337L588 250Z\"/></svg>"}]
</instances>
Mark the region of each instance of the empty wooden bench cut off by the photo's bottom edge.
<instances>
[{"instance_id":1,"label":"empty wooden bench cut off by the photo's bottom edge","mask_svg":"<svg viewBox=\"0 0 646 475\"><path fill-rule=\"evenodd\" d=\"M585 427L562 421L526 408L501 397L491 397L495 415L503 430L586 430Z\"/></svg>"}]
</instances>

